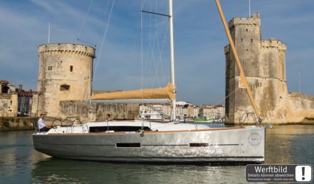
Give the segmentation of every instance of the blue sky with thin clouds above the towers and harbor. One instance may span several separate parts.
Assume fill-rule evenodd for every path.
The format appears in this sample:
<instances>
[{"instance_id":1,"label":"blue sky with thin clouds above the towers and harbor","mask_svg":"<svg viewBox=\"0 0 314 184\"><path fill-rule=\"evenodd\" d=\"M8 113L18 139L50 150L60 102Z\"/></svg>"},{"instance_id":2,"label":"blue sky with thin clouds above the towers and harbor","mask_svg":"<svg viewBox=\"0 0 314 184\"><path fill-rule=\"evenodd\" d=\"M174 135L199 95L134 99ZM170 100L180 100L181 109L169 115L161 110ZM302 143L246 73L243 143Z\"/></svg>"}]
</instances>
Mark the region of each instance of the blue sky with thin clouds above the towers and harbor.
<instances>
[{"instance_id":1,"label":"blue sky with thin clouds above the towers and harbor","mask_svg":"<svg viewBox=\"0 0 314 184\"><path fill-rule=\"evenodd\" d=\"M221 4L227 21L249 16L248 0ZM166 86L168 21L141 15L141 7L168 13L167 0L0 0L0 79L36 90L38 45L48 42L50 23L50 43L96 46L93 90ZM300 73L301 92L309 95L314 95L313 8L313 0L251 0L251 12L261 13L262 39L287 45L288 91L299 91ZM173 23L178 100L219 102L228 41L215 1L173 0Z\"/></svg>"}]
</instances>

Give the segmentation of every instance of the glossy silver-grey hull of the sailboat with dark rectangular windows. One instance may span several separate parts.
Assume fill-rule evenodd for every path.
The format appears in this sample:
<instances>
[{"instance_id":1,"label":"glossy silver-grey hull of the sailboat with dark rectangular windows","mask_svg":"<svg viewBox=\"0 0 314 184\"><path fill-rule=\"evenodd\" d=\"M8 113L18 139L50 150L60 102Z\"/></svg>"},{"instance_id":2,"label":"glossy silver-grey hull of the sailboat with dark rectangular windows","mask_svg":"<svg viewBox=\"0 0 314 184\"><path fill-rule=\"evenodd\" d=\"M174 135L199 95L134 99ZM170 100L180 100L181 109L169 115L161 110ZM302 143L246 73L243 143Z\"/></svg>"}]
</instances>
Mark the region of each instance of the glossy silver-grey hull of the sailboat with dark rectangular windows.
<instances>
[{"instance_id":1,"label":"glossy silver-grey hull of the sailboat with dark rectangular windows","mask_svg":"<svg viewBox=\"0 0 314 184\"><path fill-rule=\"evenodd\" d=\"M264 127L195 131L33 134L61 159L126 162L264 162Z\"/></svg>"}]
</instances>

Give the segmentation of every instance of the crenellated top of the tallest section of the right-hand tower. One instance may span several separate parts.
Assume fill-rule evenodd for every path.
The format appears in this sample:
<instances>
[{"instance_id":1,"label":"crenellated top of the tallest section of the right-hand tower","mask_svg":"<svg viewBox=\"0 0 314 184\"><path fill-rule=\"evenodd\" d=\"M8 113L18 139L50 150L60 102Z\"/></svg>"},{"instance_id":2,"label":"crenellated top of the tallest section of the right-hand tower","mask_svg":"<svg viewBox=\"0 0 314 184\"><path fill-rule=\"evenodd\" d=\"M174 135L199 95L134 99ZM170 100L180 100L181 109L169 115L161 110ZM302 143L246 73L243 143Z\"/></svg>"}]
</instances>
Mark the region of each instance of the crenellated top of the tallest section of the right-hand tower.
<instances>
[{"instance_id":1,"label":"crenellated top of the tallest section of the right-hand tower","mask_svg":"<svg viewBox=\"0 0 314 184\"><path fill-rule=\"evenodd\" d=\"M261 18L259 13L253 14L249 18L239 18L235 17L229 21L229 28L232 28L235 25L246 25L246 26L259 26L261 25Z\"/></svg>"}]
</instances>

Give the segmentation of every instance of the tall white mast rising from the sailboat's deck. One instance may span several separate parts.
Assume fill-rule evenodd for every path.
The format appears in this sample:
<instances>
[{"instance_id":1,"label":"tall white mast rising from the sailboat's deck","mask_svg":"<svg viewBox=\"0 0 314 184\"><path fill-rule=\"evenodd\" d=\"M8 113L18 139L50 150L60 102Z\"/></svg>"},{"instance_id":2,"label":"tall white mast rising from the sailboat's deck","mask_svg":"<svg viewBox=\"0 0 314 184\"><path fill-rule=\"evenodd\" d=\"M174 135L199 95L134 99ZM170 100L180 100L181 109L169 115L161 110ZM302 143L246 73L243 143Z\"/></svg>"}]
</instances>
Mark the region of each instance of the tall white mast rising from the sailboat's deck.
<instances>
[{"instance_id":1,"label":"tall white mast rising from the sailboat's deck","mask_svg":"<svg viewBox=\"0 0 314 184\"><path fill-rule=\"evenodd\" d=\"M173 46L173 1L169 0L169 42L170 42L170 71L171 71L171 84L173 84L175 92L175 57L174 57L174 46ZM173 105L173 122L176 120L175 111L175 99L172 100Z\"/></svg>"}]
</instances>

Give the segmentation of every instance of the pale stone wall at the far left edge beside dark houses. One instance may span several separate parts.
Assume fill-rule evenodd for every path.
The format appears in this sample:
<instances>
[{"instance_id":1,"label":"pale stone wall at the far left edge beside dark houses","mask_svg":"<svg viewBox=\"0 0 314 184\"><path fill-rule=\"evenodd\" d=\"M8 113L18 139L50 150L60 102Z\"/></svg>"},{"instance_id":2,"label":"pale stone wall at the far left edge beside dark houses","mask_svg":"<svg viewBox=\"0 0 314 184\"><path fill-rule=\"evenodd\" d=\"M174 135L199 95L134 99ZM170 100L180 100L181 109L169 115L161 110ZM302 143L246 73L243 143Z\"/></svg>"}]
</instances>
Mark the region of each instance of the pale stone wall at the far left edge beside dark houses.
<instances>
[{"instance_id":1,"label":"pale stone wall at the far left edge beside dark houses","mask_svg":"<svg viewBox=\"0 0 314 184\"><path fill-rule=\"evenodd\" d=\"M0 117L16 117L17 115L17 93L0 93Z\"/></svg>"}]
</instances>

